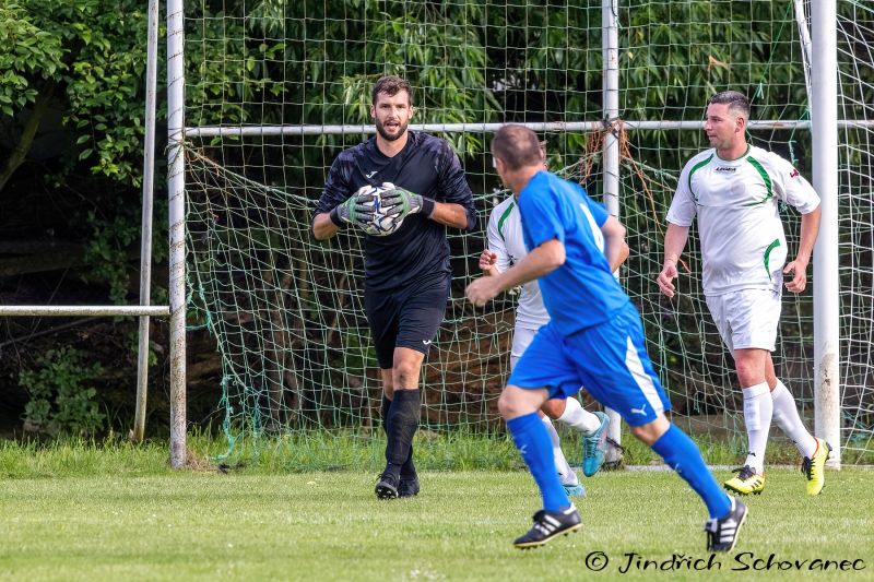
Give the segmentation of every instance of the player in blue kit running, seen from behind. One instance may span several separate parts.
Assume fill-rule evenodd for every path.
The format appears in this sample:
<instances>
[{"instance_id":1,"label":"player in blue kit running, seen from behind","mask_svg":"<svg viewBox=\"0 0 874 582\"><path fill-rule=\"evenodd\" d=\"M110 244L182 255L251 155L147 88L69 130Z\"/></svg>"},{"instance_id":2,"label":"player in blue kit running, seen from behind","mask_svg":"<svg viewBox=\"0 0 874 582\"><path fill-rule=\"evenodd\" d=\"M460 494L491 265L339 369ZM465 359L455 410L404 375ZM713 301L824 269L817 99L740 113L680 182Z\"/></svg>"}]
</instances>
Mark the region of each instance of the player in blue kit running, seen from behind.
<instances>
[{"instance_id":1,"label":"player in blue kit running, seen from behind","mask_svg":"<svg viewBox=\"0 0 874 582\"><path fill-rule=\"evenodd\" d=\"M671 404L647 355L640 316L610 270L625 227L582 188L546 171L533 131L505 126L492 140L492 155L518 200L529 254L496 276L471 283L466 297L483 306L500 292L539 278L551 317L498 401L543 499L534 525L515 546L541 546L582 526L562 487L538 411L547 399L571 396L586 385L701 497L710 514L708 550L732 549L746 507L722 491L695 443L665 418Z\"/></svg>"}]
</instances>

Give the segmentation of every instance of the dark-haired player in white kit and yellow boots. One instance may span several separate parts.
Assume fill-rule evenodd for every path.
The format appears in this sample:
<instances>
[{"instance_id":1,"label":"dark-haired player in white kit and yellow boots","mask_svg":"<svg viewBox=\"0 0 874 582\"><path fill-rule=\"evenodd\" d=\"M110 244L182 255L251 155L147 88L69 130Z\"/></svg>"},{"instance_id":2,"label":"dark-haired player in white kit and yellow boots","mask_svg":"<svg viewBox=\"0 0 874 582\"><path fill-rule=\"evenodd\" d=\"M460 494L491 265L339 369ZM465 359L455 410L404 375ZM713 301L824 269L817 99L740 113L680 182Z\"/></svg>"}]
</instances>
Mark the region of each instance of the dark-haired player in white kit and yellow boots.
<instances>
[{"instance_id":1,"label":"dark-haired player in white kit and yellow boots","mask_svg":"<svg viewBox=\"0 0 874 582\"><path fill-rule=\"evenodd\" d=\"M742 93L723 91L710 98L704 130L712 147L693 157L680 175L657 282L665 296L674 296L676 264L697 215L707 307L734 356L744 395L747 455L725 488L741 495L765 489L765 448L773 418L804 458L807 494L818 495L831 448L804 427L795 399L777 378L771 352L783 275L791 276L786 284L791 293L807 286L807 263L819 230L819 197L792 164L747 143L748 120L749 102ZM802 215L798 254L786 266L778 201Z\"/></svg>"}]
</instances>

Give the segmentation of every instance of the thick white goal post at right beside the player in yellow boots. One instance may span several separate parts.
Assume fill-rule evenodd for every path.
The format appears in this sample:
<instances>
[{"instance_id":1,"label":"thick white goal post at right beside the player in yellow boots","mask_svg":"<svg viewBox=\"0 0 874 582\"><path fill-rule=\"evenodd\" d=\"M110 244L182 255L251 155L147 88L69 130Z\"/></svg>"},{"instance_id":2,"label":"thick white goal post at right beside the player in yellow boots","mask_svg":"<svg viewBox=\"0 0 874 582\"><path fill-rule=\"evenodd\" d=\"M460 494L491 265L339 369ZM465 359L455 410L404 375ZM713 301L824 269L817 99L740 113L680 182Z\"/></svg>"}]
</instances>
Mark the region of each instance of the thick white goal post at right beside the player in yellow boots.
<instances>
[{"instance_id":1,"label":"thick white goal post at right beside the player in yellow boots","mask_svg":"<svg viewBox=\"0 0 874 582\"><path fill-rule=\"evenodd\" d=\"M822 198L819 237L813 251L814 396L816 435L840 467L840 288L838 280L838 49L835 0L811 2L813 63L813 186Z\"/></svg>"}]
</instances>

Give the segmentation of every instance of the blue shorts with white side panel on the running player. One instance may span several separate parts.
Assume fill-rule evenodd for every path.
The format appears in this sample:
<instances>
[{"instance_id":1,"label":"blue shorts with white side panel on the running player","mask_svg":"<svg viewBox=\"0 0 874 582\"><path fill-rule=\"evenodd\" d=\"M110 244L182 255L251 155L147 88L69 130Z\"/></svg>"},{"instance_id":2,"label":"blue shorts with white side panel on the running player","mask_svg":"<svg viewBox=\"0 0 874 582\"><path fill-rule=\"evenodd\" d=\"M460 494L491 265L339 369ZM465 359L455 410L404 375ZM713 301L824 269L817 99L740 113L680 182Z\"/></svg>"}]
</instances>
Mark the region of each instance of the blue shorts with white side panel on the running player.
<instances>
[{"instance_id":1,"label":"blue shorts with white side panel on the running player","mask_svg":"<svg viewBox=\"0 0 874 582\"><path fill-rule=\"evenodd\" d=\"M553 323L544 325L508 383L546 388L551 399L571 396L581 384L633 427L671 409L647 355L640 316L630 302L610 321L568 336L558 333Z\"/></svg>"}]
</instances>

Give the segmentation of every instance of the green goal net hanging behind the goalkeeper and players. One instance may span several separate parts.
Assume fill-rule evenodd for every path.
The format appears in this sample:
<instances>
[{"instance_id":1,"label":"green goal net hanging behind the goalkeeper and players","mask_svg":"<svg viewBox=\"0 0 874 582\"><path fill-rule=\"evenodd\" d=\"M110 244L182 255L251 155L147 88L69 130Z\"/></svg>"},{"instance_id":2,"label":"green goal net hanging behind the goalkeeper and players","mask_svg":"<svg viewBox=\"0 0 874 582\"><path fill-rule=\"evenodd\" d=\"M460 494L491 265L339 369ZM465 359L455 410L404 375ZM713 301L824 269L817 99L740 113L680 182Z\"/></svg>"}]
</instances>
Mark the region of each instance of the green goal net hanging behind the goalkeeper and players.
<instances>
[{"instance_id":1,"label":"green goal net hanging behind the goalkeeper and players","mask_svg":"<svg viewBox=\"0 0 874 582\"><path fill-rule=\"evenodd\" d=\"M485 155L489 123L512 121L539 130L551 168L595 199L604 136L619 138L619 218L631 249L619 276L643 317L674 419L744 450L742 397L704 302L694 230L678 297L663 298L654 278L668 204L683 164L707 147L700 121L714 92L745 92L754 107L749 140L811 177L806 24L803 14L796 20L803 2L621 2L610 16L619 28L619 116L610 120L602 9L577 4L405 2L387 10L376 0L262 0L232 9L202 0L188 10L189 321L215 337L232 451L240 437L366 441L380 426L361 239L346 230L318 242L310 225L334 157L373 133L370 87L389 73L414 86L413 123L458 152L479 212L473 233L449 234L452 296L423 369L423 425L503 431L496 401L509 368L515 297L475 310L463 289L480 274L488 213L507 195ZM871 463L874 56L866 39L874 15L849 0L839 11L840 115L859 121L840 134L841 438L845 462ZM798 215L783 215L792 253ZM812 423L810 292L784 294L773 357Z\"/></svg>"}]
</instances>

